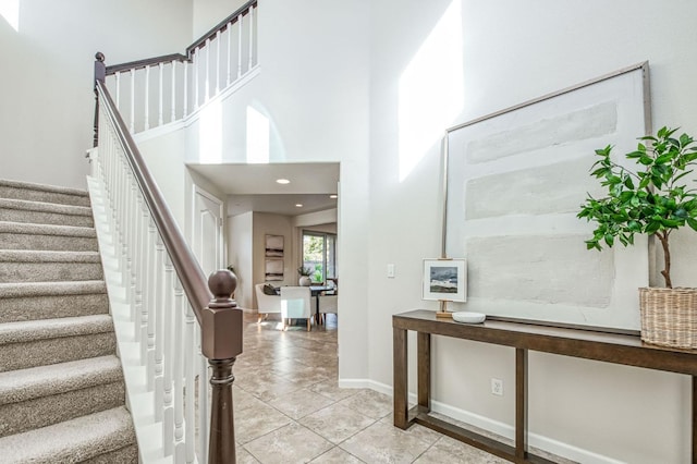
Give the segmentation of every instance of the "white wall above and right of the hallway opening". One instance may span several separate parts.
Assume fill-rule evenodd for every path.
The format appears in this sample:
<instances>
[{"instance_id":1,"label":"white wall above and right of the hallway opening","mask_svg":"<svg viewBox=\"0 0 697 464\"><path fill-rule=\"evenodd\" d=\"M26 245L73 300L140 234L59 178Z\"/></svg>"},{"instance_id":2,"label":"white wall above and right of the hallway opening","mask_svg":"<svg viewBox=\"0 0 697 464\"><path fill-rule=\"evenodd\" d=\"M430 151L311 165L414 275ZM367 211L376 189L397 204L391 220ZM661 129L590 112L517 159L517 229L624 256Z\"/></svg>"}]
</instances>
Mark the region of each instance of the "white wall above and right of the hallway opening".
<instances>
[{"instance_id":1,"label":"white wall above and right of the hallway opening","mask_svg":"<svg viewBox=\"0 0 697 464\"><path fill-rule=\"evenodd\" d=\"M186 136L191 162L246 162L253 109L268 121L269 162L341 162L340 305L352 310L339 329L339 375L358 384L368 377L368 346L342 340L365 333L368 320L368 5L265 2L258 13L260 75L222 105L204 108Z\"/></svg>"}]
</instances>

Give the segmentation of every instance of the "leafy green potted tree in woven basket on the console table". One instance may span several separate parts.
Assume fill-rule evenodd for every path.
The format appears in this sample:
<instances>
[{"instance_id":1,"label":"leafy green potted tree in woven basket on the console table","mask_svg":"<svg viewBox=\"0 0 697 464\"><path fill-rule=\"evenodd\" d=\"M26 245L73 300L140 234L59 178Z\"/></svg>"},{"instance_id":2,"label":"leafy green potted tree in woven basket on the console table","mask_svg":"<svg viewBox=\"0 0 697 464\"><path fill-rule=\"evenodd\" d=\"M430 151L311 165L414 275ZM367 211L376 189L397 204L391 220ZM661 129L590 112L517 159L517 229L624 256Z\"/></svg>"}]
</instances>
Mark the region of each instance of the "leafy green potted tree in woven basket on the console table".
<instances>
[{"instance_id":1,"label":"leafy green potted tree in woven basket on the console table","mask_svg":"<svg viewBox=\"0 0 697 464\"><path fill-rule=\"evenodd\" d=\"M687 134L674 136L676 131L661 127L655 136L640 137L637 149L625 155L636 171L612 161L612 146L596 150L600 158L591 175L607 187L607 196L588 195L578 217L597 225L586 241L588 249L611 247L616 241L634 244L636 233L660 242L665 288L639 289L641 339L697 347L697 289L673 289L671 279L671 233L684 225L697 231L697 192L685 183L697 160L697 144Z\"/></svg>"}]
</instances>

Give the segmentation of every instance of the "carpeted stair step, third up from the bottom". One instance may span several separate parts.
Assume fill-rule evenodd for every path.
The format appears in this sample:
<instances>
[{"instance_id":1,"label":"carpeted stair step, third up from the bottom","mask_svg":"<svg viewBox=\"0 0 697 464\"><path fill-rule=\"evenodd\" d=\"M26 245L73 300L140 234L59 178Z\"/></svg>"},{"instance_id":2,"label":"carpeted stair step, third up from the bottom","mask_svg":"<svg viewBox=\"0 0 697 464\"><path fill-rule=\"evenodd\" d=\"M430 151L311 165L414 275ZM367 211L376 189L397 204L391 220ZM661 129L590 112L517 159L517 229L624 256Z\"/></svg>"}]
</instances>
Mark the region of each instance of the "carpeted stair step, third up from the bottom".
<instances>
[{"instance_id":1,"label":"carpeted stair step, third up from the bottom","mask_svg":"<svg viewBox=\"0 0 697 464\"><path fill-rule=\"evenodd\" d=\"M109 315L0 325L0 373L105 356L117 351Z\"/></svg>"}]
</instances>

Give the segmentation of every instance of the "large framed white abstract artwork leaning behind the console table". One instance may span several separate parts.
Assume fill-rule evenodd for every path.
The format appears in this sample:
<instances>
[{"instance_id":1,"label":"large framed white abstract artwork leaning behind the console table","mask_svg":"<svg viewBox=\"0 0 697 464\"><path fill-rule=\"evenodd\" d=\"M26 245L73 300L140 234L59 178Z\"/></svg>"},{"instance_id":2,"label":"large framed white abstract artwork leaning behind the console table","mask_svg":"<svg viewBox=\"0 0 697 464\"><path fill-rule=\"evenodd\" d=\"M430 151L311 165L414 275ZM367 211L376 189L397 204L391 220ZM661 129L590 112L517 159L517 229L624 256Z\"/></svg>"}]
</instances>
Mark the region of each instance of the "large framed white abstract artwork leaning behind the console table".
<instances>
[{"instance_id":1,"label":"large framed white abstract artwork leaning behind the console table","mask_svg":"<svg viewBox=\"0 0 697 464\"><path fill-rule=\"evenodd\" d=\"M624 154L650 133L648 85L640 63L447 130L442 252L468 267L467 303L453 309L639 329L646 239L587 251L592 224L576 215L602 194L595 150Z\"/></svg>"}]
</instances>

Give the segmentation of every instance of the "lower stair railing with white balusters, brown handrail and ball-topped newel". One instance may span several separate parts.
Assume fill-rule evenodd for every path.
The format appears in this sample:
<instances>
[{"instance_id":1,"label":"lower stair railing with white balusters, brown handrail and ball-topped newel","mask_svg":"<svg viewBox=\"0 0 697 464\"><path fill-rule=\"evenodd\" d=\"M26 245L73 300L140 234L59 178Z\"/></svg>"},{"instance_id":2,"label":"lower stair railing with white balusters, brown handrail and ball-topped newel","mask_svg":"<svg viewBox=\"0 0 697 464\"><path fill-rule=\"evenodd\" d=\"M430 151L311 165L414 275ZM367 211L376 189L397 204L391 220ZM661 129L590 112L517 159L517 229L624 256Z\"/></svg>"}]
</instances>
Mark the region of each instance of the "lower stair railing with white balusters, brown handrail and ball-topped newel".
<instances>
[{"instance_id":1,"label":"lower stair railing with white balusters, brown handrail and ball-topped newel","mask_svg":"<svg viewBox=\"0 0 697 464\"><path fill-rule=\"evenodd\" d=\"M163 454L175 463L206 462L206 456L209 463L234 463L232 366L242 353L242 310L230 298L236 278L219 270L206 279L109 90L100 81L96 90L99 139L93 169L111 211L133 337L147 389L154 392ZM210 407L208 369L197 353L211 370Z\"/></svg>"}]
</instances>

